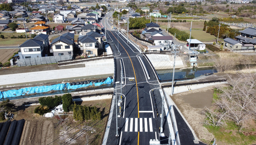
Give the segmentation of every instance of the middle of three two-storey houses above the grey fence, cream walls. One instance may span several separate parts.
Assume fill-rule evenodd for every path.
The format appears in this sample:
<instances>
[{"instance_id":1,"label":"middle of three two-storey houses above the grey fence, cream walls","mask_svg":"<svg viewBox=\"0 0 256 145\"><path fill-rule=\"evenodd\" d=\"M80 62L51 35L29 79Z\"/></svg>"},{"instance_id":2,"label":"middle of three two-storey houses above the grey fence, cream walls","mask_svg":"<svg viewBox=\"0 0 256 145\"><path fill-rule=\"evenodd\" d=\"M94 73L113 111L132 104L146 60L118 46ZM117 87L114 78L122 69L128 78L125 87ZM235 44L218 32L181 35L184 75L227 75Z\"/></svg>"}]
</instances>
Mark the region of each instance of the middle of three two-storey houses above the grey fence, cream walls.
<instances>
[{"instance_id":1,"label":"middle of three two-storey houses above the grey fence, cream walls","mask_svg":"<svg viewBox=\"0 0 256 145\"><path fill-rule=\"evenodd\" d=\"M69 36L71 36L73 39L75 35L69 33ZM53 55L73 55L74 54L74 44L75 42L73 40L70 40L64 36L60 36L58 38L55 38L51 42L51 49L50 52L53 53Z\"/></svg>"}]
</instances>

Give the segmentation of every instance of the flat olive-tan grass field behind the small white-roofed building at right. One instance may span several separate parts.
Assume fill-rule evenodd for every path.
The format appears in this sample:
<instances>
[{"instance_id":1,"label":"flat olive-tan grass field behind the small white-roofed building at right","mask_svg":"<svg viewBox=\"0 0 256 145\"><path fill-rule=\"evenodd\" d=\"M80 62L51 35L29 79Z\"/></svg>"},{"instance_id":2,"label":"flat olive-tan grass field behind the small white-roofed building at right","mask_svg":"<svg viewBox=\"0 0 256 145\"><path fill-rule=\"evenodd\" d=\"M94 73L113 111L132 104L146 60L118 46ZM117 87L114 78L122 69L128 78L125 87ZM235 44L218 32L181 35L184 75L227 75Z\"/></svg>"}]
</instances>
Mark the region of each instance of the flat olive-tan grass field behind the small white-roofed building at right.
<instances>
[{"instance_id":1,"label":"flat olive-tan grass field behind the small white-roofed building at right","mask_svg":"<svg viewBox=\"0 0 256 145\"><path fill-rule=\"evenodd\" d=\"M190 33L189 30L184 30L184 31L187 33ZM216 39L217 39L217 37L215 37L209 33L206 33L202 30L192 30L191 36L193 36L195 39L202 41L202 42L213 42L213 41L216 41Z\"/></svg>"}]
</instances>

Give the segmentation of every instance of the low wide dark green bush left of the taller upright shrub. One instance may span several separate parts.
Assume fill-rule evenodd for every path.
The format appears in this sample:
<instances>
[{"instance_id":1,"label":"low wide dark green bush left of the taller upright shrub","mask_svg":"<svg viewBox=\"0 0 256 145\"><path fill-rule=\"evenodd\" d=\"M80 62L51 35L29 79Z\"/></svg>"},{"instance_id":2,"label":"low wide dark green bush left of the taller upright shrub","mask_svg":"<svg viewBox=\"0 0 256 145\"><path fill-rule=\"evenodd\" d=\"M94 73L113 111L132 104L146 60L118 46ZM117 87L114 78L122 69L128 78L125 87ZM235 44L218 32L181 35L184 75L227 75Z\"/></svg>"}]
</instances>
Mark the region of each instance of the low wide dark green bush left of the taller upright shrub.
<instances>
[{"instance_id":1,"label":"low wide dark green bush left of the taller upright shrub","mask_svg":"<svg viewBox=\"0 0 256 145\"><path fill-rule=\"evenodd\" d=\"M55 97L43 97L39 98L39 103L43 106L48 106L50 109L53 109L54 107L58 106L61 103L62 99L61 96Z\"/></svg>"}]
</instances>

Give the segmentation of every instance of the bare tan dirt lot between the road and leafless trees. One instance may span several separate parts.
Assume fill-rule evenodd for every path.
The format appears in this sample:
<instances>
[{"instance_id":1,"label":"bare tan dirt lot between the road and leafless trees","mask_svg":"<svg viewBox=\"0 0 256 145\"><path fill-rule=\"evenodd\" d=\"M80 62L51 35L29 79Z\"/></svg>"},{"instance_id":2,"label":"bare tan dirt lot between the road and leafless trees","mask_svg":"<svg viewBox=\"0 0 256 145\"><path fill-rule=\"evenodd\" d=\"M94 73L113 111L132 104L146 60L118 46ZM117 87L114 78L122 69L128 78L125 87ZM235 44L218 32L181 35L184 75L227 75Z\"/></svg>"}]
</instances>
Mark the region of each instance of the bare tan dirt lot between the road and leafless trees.
<instances>
[{"instance_id":1,"label":"bare tan dirt lot between the road and leafless trees","mask_svg":"<svg viewBox=\"0 0 256 145\"><path fill-rule=\"evenodd\" d=\"M203 116L200 113L205 106L209 107L212 104L212 97L212 86L175 94L171 97L195 131L198 139L206 143L209 143L214 136L201 124Z\"/></svg>"}]
</instances>

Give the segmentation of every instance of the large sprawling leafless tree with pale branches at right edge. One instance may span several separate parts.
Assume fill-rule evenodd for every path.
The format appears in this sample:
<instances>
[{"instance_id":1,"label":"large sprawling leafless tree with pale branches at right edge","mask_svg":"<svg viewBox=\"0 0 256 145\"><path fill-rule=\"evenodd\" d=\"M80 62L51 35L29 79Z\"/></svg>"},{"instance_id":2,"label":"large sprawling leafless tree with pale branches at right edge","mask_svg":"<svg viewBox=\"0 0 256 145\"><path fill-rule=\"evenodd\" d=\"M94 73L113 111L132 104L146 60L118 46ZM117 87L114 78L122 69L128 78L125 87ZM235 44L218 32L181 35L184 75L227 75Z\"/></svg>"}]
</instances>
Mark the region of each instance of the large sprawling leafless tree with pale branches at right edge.
<instances>
[{"instance_id":1,"label":"large sprawling leafless tree with pale branches at right edge","mask_svg":"<svg viewBox=\"0 0 256 145\"><path fill-rule=\"evenodd\" d=\"M212 107L204 108L204 124L225 125L225 120L234 121L239 132L244 123L256 117L256 74L236 74L228 76L228 86L221 86L218 99Z\"/></svg>"}]
</instances>

